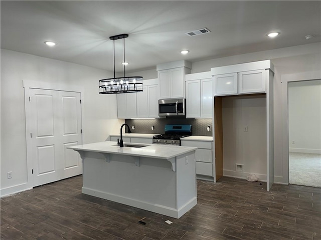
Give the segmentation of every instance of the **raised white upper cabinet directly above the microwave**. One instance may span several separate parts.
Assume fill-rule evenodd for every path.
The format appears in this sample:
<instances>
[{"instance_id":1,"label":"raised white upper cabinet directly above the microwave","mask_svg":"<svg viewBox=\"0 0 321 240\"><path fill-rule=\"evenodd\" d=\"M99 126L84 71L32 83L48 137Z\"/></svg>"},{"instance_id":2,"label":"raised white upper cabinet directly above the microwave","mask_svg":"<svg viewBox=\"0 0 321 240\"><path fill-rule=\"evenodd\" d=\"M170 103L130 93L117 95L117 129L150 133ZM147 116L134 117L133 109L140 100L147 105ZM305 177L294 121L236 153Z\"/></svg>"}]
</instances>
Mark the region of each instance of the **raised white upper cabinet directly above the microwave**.
<instances>
[{"instance_id":1,"label":"raised white upper cabinet directly above the microwave","mask_svg":"<svg viewBox=\"0 0 321 240\"><path fill-rule=\"evenodd\" d=\"M186 60L158 64L159 98L185 97L185 74L191 73L192 63Z\"/></svg>"}]
</instances>

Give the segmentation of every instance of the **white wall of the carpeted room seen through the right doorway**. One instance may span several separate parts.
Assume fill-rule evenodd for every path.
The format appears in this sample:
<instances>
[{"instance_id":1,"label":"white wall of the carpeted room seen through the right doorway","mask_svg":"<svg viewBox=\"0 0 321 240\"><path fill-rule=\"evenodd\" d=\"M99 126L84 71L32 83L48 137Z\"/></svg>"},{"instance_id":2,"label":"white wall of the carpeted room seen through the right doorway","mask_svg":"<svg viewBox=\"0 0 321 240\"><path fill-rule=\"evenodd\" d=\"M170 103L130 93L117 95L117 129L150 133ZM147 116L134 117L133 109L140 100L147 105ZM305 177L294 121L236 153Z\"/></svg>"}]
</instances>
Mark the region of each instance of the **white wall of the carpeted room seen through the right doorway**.
<instances>
[{"instance_id":1,"label":"white wall of the carpeted room seen through the right doorway","mask_svg":"<svg viewBox=\"0 0 321 240\"><path fill-rule=\"evenodd\" d=\"M289 151L321 153L321 80L288 83Z\"/></svg>"}]
</instances>

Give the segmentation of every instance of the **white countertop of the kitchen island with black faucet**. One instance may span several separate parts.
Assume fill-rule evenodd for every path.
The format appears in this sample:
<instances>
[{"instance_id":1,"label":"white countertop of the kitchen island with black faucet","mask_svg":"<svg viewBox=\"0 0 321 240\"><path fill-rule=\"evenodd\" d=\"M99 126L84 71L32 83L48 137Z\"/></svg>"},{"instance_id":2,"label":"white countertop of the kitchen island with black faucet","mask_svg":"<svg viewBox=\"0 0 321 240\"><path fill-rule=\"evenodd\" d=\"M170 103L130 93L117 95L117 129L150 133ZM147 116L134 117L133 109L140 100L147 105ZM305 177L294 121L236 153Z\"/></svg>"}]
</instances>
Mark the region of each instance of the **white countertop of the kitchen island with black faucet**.
<instances>
[{"instance_id":1,"label":"white countertop of the kitchen island with black faucet","mask_svg":"<svg viewBox=\"0 0 321 240\"><path fill-rule=\"evenodd\" d=\"M132 133L129 133L132 134ZM124 142L126 144L126 142ZM136 145L147 145L144 147L119 147L114 141L102 141L96 143L89 143L77 146L69 146L67 148L81 151L94 151L101 153L123 154L131 156L142 156L151 158L170 159L175 156L185 154L187 152L196 150L197 147L190 146L174 146L161 144L141 144L130 143Z\"/></svg>"}]
</instances>

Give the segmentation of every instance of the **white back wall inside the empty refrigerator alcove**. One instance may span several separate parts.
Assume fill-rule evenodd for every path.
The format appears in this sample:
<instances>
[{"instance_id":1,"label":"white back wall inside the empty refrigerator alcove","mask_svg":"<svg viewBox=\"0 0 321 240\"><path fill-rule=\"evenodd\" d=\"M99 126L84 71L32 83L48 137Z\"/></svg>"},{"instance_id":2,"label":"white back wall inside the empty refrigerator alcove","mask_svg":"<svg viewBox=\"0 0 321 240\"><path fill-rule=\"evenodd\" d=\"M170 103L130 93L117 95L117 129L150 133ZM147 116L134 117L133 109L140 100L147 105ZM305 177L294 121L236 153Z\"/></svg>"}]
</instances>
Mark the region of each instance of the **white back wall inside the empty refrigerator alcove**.
<instances>
[{"instance_id":1,"label":"white back wall inside the empty refrigerator alcove","mask_svg":"<svg viewBox=\"0 0 321 240\"><path fill-rule=\"evenodd\" d=\"M266 180L266 97L224 97L223 174L246 177L255 173ZM247 131L244 131L247 127ZM236 171L243 164L243 172Z\"/></svg>"}]
</instances>

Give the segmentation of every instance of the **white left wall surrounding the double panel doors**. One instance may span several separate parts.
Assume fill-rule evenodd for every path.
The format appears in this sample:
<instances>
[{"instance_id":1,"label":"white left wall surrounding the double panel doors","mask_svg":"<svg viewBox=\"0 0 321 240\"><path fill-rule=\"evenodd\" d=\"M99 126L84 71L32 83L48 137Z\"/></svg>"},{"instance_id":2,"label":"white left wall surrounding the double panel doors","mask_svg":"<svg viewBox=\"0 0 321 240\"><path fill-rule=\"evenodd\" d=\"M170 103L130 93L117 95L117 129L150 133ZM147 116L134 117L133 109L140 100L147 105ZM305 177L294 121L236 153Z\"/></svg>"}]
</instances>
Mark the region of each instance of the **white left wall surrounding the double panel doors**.
<instances>
[{"instance_id":1,"label":"white left wall surrounding the double panel doors","mask_svg":"<svg viewBox=\"0 0 321 240\"><path fill-rule=\"evenodd\" d=\"M1 195L30 187L23 80L82 87L83 143L90 143L104 141L122 123L116 95L98 93L98 80L110 76L103 69L1 49Z\"/></svg>"}]
</instances>

